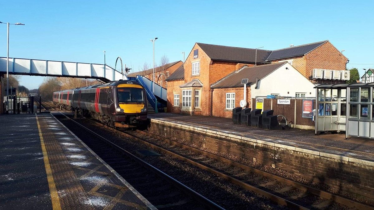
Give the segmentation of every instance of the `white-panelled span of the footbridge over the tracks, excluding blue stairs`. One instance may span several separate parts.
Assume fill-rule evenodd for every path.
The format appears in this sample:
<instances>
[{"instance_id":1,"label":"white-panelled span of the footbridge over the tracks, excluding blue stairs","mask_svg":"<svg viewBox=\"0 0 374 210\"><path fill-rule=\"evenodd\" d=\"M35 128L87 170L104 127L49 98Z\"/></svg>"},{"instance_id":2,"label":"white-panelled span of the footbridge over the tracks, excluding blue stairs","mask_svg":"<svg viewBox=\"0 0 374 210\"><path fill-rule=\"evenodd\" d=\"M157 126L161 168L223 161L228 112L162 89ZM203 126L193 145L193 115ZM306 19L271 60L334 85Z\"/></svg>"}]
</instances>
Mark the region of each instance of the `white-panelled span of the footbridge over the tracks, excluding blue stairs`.
<instances>
[{"instance_id":1,"label":"white-panelled span of the footbridge over the tracks, excluding blue stairs","mask_svg":"<svg viewBox=\"0 0 374 210\"><path fill-rule=\"evenodd\" d=\"M0 57L0 72L6 72L6 59ZM127 80L125 74L104 64L9 58L8 68L9 74L92 78L105 82Z\"/></svg>"}]
</instances>

